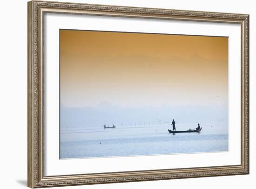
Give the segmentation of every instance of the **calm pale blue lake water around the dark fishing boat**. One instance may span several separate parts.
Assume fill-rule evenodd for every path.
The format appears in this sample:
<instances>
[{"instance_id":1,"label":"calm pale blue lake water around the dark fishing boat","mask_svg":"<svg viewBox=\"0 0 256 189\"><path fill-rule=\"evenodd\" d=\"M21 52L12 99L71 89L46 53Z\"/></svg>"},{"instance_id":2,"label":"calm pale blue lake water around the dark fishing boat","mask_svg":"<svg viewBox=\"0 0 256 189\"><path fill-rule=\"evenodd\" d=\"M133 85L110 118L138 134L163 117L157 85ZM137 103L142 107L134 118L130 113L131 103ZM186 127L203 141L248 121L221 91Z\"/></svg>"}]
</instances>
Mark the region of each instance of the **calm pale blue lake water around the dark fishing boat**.
<instances>
[{"instance_id":1,"label":"calm pale blue lake water around the dark fishing boat","mask_svg":"<svg viewBox=\"0 0 256 189\"><path fill-rule=\"evenodd\" d=\"M196 125L177 125L177 130ZM202 125L200 133L171 134L169 125L62 130L60 157L87 158L229 150L228 125Z\"/></svg>"}]
</instances>

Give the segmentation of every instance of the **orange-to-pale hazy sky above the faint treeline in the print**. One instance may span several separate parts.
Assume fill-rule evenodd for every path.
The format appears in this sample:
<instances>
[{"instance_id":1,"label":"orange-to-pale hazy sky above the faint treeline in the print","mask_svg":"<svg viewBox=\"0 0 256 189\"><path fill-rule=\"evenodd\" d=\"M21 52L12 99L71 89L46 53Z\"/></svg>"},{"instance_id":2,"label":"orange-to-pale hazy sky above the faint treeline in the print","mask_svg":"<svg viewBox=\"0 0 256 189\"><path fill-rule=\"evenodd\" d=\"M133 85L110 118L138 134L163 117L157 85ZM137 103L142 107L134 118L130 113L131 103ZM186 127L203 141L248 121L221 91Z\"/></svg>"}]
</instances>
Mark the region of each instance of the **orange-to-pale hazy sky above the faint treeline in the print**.
<instances>
[{"instance_id":1,"label":"orange-to-pale hazy sky above the faint treeline in the print","mask_svg":"<svg viewBox=\"0 0 256 189\"><path fill-rule=\"evenodd\" d=\"M228 38L60 31L67 107L228 103Z\"/></svg>"}]
</instances>

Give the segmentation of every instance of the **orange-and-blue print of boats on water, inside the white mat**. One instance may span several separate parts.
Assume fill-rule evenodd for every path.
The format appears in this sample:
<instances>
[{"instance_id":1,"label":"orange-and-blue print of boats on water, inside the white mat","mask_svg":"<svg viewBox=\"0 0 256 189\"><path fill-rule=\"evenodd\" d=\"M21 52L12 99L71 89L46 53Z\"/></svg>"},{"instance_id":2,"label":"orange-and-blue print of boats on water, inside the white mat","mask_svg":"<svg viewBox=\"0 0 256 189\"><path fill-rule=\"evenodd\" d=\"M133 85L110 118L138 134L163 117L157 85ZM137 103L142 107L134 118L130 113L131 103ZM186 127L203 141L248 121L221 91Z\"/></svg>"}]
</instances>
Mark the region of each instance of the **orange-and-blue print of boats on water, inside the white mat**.
<instances>
[{"instance_id":1,"label":"orange-and-blue print of boats on water, inside the white mat","mask_svg":"<svg viewBox=\"0 0 256 189\"><path fill-rule=\"evenodd\" d=\"M229 38L60 29L60 158L229 151Z\"/></svg>"}]
</instances>

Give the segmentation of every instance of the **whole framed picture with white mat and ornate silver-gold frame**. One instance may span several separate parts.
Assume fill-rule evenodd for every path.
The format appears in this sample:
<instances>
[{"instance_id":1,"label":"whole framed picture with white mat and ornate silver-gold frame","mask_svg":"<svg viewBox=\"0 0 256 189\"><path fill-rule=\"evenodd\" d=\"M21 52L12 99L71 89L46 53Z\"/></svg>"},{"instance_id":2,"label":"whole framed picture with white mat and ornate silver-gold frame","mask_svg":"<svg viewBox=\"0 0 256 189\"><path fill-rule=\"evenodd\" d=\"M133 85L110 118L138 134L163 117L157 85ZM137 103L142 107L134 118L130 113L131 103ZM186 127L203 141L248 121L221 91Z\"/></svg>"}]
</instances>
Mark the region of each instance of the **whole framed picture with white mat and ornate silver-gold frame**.
<instances>
[{"instance_id":1,"label":"whole framed picture with white mat and ornate silver-gold frame","mask_svg":"<svg viewBox=\"0 0 256 189\"><path fill-rule=\"evenodd\" d=\"M28 186L249 174L249 15L28 2Z\"/></svg>"}]
</instances>

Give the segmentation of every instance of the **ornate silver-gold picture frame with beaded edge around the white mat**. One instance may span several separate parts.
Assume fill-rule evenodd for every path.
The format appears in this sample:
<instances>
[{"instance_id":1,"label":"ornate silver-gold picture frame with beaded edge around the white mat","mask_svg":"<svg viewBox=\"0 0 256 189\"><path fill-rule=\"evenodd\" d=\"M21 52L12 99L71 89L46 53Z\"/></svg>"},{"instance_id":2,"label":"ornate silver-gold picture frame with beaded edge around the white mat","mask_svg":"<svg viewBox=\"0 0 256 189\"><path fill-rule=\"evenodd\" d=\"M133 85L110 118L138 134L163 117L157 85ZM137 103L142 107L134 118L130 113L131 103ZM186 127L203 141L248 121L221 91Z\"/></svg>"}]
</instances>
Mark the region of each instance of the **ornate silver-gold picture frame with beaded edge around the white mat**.
<instances>
[{"instance_id":1,"label":"ornate silver-gold picture frame with beaded edge around the white mat","mask_svg":"<svg viewBox=\"0 0 256 189\"><path fill-rule=\"evenodd\" d=\"M223 166L98 172L84 174L45 174L45 15L108 16L110 18L157 19L229 23L241 27L241 162ZM28 187L51 187L98 183L119 183L204 176L249 174L249 15L212 13L141 7L91 5L63 2L28 2ZM240 60L239 60L240 61ZM57 62L58 64L58 62ZM232 119L232 117L230 118ZM232 125L230 125L231 127ZM56 126L58 127L58 126ZM57 136L56 136L57 137ZM94 165L97 166L97 165Z\"/></svg>"}]
</instances>

